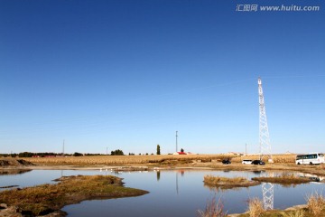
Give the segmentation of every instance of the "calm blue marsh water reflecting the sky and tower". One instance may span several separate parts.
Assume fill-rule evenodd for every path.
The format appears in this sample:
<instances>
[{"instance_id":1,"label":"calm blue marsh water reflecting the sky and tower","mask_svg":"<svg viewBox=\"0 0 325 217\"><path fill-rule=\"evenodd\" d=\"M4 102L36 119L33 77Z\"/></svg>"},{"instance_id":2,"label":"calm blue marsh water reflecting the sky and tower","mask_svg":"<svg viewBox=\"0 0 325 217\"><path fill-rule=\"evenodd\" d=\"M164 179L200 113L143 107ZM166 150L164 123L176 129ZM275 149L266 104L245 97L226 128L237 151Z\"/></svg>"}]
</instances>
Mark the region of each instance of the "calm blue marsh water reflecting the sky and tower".
<instances>
[{"instance_id":1,"label":"calm blue marsh water reflecting the sky and tower","mask_svg":"<svg viewBox=\"0 0 325 217\"><path fill-rule=\"evenodd\" d=\"M274 173L273 173L274 174ZM276 173L275 173L276 174ZM264 171L235 172L211 170L163 170L149 172L114 172L111 170L32 170L17 175L0 175L0 186L55 183L62 175L116 175L124 178L126 187L139 188L150 193L138 197L84 201L65 206L68 216L198 216L211 200L220 199L228 213L246 212L247 201L264 196L272 199L274 209L285 209L306 203L311 193L324 192L325 184L310 183L291 186L260 184L248 188L216 189L203 184L204 175L226 177L244 176L248 179L270 175ZM4 191L4 189L0 189ZM265 191L265 194L263 193ZM270 195L271 193L271 195Z\"/></svg>"}]
</instances>

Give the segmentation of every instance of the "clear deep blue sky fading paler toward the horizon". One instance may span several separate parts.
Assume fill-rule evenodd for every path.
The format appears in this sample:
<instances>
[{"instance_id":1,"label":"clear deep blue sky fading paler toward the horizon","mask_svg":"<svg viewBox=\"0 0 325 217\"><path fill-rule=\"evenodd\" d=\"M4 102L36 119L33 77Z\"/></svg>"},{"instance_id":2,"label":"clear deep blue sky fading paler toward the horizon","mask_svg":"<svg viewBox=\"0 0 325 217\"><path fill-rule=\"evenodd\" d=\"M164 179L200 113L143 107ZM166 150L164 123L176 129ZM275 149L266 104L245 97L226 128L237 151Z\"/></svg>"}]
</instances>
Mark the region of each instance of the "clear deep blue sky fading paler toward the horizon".
<instances>
[{"instance_id":1,"label":"clear deep blue sky fading paler toward the horizon","mask_svg":"<svg viewBox=\"0 0 325 217\"><path fill-rule=\"evenodd\" d=\"M237 5L319 12L237 12ZM0 0L0 153L325 152L323 0Z\"/></svg>"}]
</instances>

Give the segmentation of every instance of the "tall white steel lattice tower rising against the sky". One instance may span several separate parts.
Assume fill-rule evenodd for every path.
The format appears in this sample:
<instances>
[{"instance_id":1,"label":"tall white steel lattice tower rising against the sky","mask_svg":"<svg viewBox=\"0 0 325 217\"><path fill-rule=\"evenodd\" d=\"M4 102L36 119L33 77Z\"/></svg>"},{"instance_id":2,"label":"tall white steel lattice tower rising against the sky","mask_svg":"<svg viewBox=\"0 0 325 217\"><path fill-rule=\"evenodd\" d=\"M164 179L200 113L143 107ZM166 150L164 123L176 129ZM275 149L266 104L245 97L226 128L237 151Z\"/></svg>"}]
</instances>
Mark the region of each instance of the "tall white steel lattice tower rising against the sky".
<instances>
[{"instance_id":1,"label":"tall white steel lattice tower rising against the sky","mask_svg":"<svg viewBox=\"0 0 325 217\"><path fill-rule=\"evenodd\" d=\"M267 127L265 99L262 89L262 80L258 78L258 96L259 96L259 144L260 144L260 159L268 157L269 162L273 162L271 155L270 136Z\"/></svg>"}]
</instances>

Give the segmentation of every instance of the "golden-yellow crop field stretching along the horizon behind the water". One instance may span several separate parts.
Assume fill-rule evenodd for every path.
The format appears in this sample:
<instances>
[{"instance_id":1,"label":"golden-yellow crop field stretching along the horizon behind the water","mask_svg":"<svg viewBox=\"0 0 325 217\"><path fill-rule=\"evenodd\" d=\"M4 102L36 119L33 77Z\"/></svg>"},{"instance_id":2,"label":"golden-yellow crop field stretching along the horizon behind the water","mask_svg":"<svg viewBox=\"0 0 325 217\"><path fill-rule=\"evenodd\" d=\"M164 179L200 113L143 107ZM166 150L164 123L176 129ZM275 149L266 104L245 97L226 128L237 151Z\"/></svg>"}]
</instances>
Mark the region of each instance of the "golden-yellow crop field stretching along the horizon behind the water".
<instances>
[{"instance_id":1,"label":"golden-yellow crop field stretching along the horizon behind the water","mask_svg":"<svg viewBox=\"0 0 325 217\"><path fill-rule=\"evenodd\" d=\"M24 158L35 165L160 165L163 163L189 164L191 162L218 163L231 159L240 164L243 159L258 159L259 156L234 155L188 155L188 156L68 156L68 157L31 157ZM295 155L275 155L274 163L294 163Z\"/></svg>"}]
</instances>

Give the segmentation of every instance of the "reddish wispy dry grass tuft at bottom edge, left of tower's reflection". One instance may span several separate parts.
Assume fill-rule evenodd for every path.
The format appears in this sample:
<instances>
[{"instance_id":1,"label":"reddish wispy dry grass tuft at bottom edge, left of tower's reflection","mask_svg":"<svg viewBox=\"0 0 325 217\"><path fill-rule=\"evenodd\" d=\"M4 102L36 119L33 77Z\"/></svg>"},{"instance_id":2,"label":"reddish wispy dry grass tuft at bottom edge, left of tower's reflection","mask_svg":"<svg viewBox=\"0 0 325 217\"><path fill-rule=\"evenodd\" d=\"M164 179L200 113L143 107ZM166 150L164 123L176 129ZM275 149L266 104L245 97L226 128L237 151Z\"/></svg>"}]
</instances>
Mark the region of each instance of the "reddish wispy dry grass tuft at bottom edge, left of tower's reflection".
<instances>
[{"instance_id":1,"label":"reddish wispy dry grass tuft at bottom edge, left of tower's reflection","mask_svg":"<svg viewBox=\"0 0 325 217\"><path fill-rule=\"evenodd\" d=\"M200 217L226 217L227 212L224 211L223 203L221 199L216 201L214 197L209 203L207 203L204 211L198 211Z\"/></svg>"}]
</instances>

